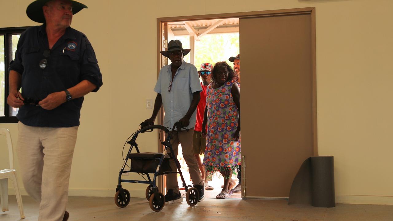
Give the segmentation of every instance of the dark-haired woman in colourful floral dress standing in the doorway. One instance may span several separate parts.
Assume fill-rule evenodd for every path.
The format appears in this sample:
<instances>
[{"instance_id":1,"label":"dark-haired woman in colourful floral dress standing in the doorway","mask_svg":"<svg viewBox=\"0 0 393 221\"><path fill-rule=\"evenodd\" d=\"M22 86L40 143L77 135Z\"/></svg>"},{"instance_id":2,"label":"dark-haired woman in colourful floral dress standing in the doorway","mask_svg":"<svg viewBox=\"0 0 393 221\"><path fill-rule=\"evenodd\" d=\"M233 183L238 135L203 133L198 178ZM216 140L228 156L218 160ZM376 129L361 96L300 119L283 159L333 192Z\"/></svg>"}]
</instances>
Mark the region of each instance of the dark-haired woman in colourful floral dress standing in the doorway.
<instances>
[{"instance_id":1,"label":"dark-haired woman in colourful floral dress standing in the doorway","mask_svg":"<svg viewBox=\"0 0 393 221\"><path fill-rule=\"evenodd\" d=\"M231 195L231 175L241 165L240 87L237 81L232 80L233 74L233 69L225 61L214 65L213 83L207 88L202 123L202 136L206 136L203 166L208 173L219 171L224 177L224 186L216 196L217 199L225 199Z\"/></svg>"}]
</instances>

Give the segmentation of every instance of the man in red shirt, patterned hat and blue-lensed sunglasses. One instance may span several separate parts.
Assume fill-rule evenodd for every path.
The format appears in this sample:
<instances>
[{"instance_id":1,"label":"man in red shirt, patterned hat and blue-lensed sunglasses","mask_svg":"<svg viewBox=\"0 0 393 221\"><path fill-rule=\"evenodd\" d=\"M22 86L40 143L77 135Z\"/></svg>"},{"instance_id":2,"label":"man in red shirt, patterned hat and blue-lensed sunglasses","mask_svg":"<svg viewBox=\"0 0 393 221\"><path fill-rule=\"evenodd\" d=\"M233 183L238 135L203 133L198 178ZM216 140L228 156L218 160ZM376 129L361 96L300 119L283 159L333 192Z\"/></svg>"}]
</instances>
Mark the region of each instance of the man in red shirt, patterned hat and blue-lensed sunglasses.
<instances>
[{"instance_id":1,"label":"man in red shirt, patterned hat and blue-lensed sunglasses","mask_svg":"<svg viewBox=\"0 0 393 221\"><path fill-rule=\"evenodd\" d=\"M198 107L196 108L196 123L194 127L194 136L193 136L193 149L196 161L198 162L199 170L202 173L202 179L205 183L205 190L213 190L212 186L209 186L208 179L206 178L205 168L202 166L202 161L200 160L199 155L205 153L206 149L206 137L202 137L202 122L206 107L206 88L210 84L211 81L211 69L213 65L210 63L203 63L200 65L200 70L198 71L199 77L202 77L202 91L200 92L200 100L198 103Z\"/></svg>"}]
</instances>

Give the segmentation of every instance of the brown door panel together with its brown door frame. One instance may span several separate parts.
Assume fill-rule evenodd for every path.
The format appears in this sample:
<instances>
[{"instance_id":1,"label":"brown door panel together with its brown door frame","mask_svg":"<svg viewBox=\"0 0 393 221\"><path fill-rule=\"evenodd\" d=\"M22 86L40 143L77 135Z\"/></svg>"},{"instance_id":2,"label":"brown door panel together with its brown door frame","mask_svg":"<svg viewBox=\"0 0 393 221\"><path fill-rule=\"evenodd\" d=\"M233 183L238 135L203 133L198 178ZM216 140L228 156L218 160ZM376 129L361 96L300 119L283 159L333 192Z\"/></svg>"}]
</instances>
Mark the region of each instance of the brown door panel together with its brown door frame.
<instances>
[{"instance_id":1,"label":"brown door panel together with its brown door frame","mask_svg":"<svg viewBox=\"0 0 393 221\"><path fill-rule=\"evenodd\" d=\"M315 7L157 18L157 49L167 50L168 23L227 18L242 23L242 198L285 200L301 163L318 155ZM157 64L158 73L168 61L157 53Z\"/></svg>"}]
</instances>

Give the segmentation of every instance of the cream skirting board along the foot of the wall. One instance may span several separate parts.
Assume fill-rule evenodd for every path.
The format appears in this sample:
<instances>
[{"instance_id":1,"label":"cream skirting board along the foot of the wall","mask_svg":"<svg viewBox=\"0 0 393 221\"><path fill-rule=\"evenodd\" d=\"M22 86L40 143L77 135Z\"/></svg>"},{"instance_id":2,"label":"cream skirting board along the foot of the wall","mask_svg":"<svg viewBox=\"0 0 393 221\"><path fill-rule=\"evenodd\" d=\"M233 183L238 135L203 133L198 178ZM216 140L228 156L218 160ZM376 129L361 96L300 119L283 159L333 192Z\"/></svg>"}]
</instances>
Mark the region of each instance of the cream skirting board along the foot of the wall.
<instances>
[{"instance_id":1,"label":"cream skirting board along the foot of the wall","mask_svg":"<svg viewBox=\"0 0 393 221\"><path fill-rule=\"evenodd\" d=\"M130 190L131 197L145 198L145 190ZM27 195L24 188L20 189L22 195ZM9 195L15 195L13 188L8 188ZM68 195L72 197L114 197L115 190L108 189L70 189ZM361 195L336 195L336 203L350 204L376 204L376 205L393 205L393 196L361 196ZM266 197L245 197L246 199L267 199ZM274 199L277 200L276 197ZM286 199L286 198L285 198ZM279 200L285 200L283 198Z\"/></svg>"}]
</instances>

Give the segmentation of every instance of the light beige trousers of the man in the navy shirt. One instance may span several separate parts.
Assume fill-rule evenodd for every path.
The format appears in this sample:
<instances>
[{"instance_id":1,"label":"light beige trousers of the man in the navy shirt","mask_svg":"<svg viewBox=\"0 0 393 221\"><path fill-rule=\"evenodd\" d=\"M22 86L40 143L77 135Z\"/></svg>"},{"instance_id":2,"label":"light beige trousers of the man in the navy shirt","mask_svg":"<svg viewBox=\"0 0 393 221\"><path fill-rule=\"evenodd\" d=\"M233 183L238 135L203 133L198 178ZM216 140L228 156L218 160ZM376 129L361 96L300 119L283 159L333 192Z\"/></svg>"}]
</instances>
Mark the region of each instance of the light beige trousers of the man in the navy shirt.
<instances>
[{"instance_id":1,"label":"light beige trousers of the man in the navy shirt","mask_svg":"<svg viewBox=\"0 0 393 221\"><path fill-rule=\"evenodd\" d=\"M40 203L39 221L62 221L78 126L18 123L17 153L26 192Z\"/></svg>"}]
</instances>

